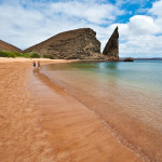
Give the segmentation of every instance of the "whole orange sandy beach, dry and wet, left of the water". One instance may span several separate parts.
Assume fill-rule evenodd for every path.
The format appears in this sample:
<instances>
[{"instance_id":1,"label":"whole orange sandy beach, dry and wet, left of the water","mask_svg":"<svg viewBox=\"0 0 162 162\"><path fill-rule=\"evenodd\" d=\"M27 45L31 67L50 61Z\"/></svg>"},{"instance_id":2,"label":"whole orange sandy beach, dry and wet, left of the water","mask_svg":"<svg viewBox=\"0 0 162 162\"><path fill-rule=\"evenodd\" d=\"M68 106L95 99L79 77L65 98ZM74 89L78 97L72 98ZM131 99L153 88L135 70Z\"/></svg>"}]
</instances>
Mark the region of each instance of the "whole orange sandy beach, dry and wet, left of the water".
<instances>
[{"instance_id":1,"label":"whole orange sandy beach, dry and wet, left of the water","mask_svg":"<svg viewBox=\"0 0 162 162\"><path fill-rule=\"evenodd\" d=\"M41 64L71 60L41 60ZM32 59L0 58L0 161L140 162Z\"/></svg>"}]
</instances>

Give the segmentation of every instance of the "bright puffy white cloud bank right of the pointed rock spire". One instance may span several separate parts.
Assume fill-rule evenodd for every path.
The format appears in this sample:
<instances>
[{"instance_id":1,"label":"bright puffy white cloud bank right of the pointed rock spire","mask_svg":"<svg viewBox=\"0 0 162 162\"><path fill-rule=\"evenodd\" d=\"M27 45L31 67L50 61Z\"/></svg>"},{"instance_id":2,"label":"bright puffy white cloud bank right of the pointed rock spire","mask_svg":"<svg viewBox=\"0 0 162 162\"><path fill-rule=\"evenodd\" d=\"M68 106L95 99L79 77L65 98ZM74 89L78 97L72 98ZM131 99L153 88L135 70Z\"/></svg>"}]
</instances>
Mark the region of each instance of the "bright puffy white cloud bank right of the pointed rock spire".
<instances>
[{"instance_id":1,"label":"bright puffy white cloud bank right of the pointed rock spire","mask_svg":"<svg viewBox=\"0 0 162 162\"><path fill-rule=\"evenodd\" d=\"M120 56L162 57L162 0L153 3L148 15L135 15L125 24L112 24L107 30L119 26Z\"/></svg>"}]
</instances>

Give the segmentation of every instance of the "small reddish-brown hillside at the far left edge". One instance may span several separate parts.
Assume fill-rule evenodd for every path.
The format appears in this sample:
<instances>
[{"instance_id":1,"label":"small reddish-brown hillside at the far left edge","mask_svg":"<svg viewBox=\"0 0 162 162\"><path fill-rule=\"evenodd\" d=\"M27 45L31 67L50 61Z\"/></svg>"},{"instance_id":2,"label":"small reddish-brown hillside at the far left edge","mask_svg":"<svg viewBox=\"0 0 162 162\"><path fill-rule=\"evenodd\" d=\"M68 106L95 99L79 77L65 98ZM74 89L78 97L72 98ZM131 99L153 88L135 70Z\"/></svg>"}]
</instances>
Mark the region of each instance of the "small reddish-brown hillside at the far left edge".
<instances>
[{"instance_id":1,"label":"small reddish-brown hillside at the far left edge","mask_svg":"<svg viewBox=\"0 0 162 162\"><path fill-rule=\"evenodd\" d=\"M0 50L9 52L22 52L21 49L0 40Z\"/></svg>"}]
</instances>

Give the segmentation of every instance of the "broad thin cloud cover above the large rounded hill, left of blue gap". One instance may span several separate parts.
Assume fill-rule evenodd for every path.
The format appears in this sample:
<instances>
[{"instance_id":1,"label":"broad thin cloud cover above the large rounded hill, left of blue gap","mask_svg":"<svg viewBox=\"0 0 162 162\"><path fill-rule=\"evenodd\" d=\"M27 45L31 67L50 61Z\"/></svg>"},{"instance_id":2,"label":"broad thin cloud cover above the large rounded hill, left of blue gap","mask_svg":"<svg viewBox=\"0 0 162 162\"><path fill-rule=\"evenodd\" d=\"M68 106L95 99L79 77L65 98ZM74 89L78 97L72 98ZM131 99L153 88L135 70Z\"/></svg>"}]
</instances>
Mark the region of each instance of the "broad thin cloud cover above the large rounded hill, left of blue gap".
<instances>
[{"instance_id":1,"label":"broad thin cloud cover above the large rounded hill, left of blue gap","mask_svg":"<svg viewBox=\"0 0 162 162\"><path fill-rule=\"evenodd\" d=\"M0 38L22 49L60 31L108 25L123 13L110 3L98 3L96 0L3 1L0 11Z\"/></svg>"}]
</instances>

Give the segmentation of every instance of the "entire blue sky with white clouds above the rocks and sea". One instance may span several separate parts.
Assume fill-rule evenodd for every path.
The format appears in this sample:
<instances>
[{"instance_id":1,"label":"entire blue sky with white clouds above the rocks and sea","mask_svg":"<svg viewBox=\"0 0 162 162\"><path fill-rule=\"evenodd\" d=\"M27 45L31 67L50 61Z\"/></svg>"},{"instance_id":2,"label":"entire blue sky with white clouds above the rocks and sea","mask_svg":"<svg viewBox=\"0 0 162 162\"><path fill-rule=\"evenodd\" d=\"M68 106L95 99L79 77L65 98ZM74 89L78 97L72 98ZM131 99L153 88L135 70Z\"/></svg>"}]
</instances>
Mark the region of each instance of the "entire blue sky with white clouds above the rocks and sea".
<instances>
[{"instance_id":1,"label":"entire blue sky with white clouds above the rocks and sea","mask_svg":"<svg viewBox=\"0 0 162 162\"><path fill-rule=\"evenodd\" d=\"M162 57L162 0L0 0L0 39L23 50L85 27L103 50L116 26L120 57Z\"/></svg>"}]
</instances>

